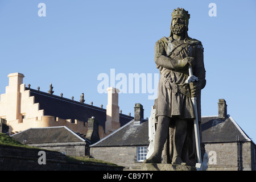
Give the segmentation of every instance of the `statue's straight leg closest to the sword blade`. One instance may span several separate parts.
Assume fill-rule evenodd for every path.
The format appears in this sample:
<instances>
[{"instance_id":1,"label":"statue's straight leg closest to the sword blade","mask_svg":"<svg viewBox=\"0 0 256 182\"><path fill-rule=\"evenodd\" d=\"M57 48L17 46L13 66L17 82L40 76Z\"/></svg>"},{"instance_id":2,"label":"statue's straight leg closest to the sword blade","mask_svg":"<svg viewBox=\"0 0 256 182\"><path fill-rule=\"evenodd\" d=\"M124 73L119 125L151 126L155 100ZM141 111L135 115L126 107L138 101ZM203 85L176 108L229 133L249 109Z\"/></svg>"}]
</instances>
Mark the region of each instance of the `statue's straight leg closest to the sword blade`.
<instances>
[{"instance_id":1,"label":"statue's straight leg closest to the sword blade","mask_svg":"<svg viewBox=\"0 0 256 182\"><path fill-rule=\"evenodd\" d=\"M172 158L172 164L183 163L181 159L182 149L187 137L187 122L184 119L175 119L174 130L174 154Z\"/></svg>"}]
</instances>

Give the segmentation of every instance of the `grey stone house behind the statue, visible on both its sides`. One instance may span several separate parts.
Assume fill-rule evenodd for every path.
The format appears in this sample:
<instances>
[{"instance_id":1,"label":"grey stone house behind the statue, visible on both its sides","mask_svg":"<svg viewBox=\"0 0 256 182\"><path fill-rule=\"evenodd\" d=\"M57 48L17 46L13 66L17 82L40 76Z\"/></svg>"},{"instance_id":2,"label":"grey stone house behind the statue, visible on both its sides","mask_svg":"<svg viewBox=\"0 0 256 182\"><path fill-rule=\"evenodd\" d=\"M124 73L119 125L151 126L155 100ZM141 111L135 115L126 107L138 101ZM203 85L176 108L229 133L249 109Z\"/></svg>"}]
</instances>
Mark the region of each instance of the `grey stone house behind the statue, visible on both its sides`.
<instances>
[{"instance_id":1,"label":"grey stone house behind the statue, visible on both its sides","mask_svg":"<svg viewBox=\"0 0 256 182\"><path fill-rule=\"evenodd\" d=\"M219 114L202 117L202 142L209 157L208 170L255 171L256 145L226 110L225 100L219 100ZM143 121L135 117L108 137L90 145L90 155L125 166L125 169L140 170L150 143L148 121Z\"/></svg>"}]
</instances>

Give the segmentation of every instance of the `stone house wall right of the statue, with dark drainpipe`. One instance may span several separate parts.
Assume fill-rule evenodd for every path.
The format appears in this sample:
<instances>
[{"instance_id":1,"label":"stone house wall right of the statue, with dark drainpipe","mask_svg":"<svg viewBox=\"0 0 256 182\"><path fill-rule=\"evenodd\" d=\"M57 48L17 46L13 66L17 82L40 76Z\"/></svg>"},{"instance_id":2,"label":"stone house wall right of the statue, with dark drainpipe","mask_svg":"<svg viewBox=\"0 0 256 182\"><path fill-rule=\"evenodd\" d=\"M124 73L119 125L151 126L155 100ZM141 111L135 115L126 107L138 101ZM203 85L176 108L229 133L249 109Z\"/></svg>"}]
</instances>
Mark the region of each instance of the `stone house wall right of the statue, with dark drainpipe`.
<instances>
[{"instance_id":1,"label":"stone house wall right of the statue, with dark drainpipe","mask_svg":"<svg viewBox=\"0 0 256 182\"><path fill-rule=\"evenodd\" d=\"M251 143L241 142L241 167L243 171L251 170L252 157ZM209 156L208 170L237 171L238 153L237 142L205 143L205 151Z\"/></svg>"}]
</instances>

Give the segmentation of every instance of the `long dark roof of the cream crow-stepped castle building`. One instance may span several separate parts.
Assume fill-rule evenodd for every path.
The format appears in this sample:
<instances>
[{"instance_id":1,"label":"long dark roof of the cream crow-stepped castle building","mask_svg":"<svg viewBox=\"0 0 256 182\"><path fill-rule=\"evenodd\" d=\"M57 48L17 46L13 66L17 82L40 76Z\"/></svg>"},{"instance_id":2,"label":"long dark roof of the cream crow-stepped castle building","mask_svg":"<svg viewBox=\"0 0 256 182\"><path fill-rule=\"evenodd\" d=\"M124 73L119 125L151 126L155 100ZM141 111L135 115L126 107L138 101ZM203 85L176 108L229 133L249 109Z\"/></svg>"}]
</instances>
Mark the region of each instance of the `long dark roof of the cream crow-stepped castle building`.
<instances>
[{"instance_id":1,"label":"long dark roof of the cream crow-stepped castle building","mask_svg":"<svg viewBox=\"0 0 256 182\"><path fill-rule=\"evenodd\" d=\"M61 119L71 119L72 122L75 122L75 119L88 122L88 118L94 117L99 125L103 126L105 130L106 109L31 88L26 88L26 90L30 90L30 96L35 97L35 103L39 103L39 109L44 110L44 115L52 115ZM134 118L125 114L119 115L119 122L121 126L130 122Z\"/></svg>"}]
</instances>

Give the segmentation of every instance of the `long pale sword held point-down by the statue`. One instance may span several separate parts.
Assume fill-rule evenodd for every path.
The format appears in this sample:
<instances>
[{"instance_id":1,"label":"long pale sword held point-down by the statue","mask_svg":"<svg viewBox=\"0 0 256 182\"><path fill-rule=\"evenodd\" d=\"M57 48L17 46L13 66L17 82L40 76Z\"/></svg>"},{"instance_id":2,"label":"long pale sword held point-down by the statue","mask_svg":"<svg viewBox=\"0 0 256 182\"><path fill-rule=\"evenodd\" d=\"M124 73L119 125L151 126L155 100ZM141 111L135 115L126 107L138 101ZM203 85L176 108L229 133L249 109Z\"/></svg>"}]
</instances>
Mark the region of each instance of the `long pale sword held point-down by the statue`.
<instances>
[{"instance_id":1,"label":"long pale sword held point-down by the statue","mask_svg":"<svg viewBox=\"0 0 256 182\"><path fill-rule=\"evenodd\" d=\"M193 75L192 67L189 65L188 67L189 76L185 81L186 84L190 82L198 81L198 78ZM198 124L198 115L197 115L197 105L196 105L196 97L191 97L193 109L195 111L196 118L194 119L194 129L195 129L195 138L196 138L196 155L197 155L197 163L196 167L200 170L202 159L201 159L201 148L200 148L200 136L199 136L199 124Z\"/></svg>"}]
</instances>

